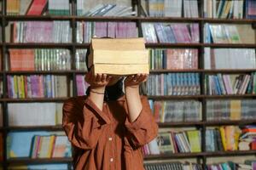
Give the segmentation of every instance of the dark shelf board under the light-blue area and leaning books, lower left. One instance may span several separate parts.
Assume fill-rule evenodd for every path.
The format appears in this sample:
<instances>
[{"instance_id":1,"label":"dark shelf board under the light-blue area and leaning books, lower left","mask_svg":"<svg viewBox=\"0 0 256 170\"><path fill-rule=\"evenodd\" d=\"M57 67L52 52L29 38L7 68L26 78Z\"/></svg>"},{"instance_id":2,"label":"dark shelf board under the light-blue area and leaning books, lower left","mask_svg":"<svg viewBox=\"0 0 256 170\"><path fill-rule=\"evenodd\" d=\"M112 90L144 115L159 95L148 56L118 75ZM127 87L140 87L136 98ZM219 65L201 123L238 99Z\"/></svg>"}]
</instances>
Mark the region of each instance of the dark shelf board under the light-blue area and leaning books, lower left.
<instances>
[{"instance_id":1,"label":"dark shelf board under the light-blue area and leaning books, lower left","mask_svg":"<svg viewBox=\"0 0 256 170\"><path fill-rule=\"evenodd\" d=\"M29 157L24 158L9 158L7 163L11 165L22 165L22 164L49 164L49 163L71 163L72 158L37 158L32 159Z\"/></svg>"}]
</instances>

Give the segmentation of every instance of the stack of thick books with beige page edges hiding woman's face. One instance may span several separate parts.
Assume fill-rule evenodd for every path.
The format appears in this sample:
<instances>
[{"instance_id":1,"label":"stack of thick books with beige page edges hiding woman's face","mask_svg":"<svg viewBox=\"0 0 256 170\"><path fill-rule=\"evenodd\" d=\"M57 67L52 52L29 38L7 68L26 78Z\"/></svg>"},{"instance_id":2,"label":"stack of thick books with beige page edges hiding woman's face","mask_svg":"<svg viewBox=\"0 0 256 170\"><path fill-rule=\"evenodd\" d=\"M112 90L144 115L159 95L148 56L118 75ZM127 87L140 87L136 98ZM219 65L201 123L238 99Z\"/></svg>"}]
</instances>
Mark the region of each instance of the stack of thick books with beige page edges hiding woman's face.
<instances>
[{"instance_id":1,"label":"stack of thick books with beige page edges hiding woman's face","mask_svg":"<svg viewBox=\"0 0 256 170\"><path fill-rule=\"evenodd\" d=\"M92 38L88 66L96 73L131 75L149 73L143 38Z\"/></svg>"}]
</instances>

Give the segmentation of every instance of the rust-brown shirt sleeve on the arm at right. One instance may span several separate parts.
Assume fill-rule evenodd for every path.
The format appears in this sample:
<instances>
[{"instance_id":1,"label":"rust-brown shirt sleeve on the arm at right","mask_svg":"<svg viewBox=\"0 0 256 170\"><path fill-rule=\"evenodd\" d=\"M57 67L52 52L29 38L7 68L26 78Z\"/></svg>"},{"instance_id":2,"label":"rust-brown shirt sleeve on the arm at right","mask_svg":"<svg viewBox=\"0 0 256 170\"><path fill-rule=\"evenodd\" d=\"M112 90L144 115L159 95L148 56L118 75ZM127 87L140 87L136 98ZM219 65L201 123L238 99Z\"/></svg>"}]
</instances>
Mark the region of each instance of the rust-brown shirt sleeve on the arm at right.
<instances>
[{"instance_id":1,"label":"rust-brown shirt sleeve on the arm at right","mask_svg":"<svg viewBox=\"0 0 256 170\"><path fill-rule=\"evenodd\" d=\"M128 116L125 120L126 137L134 149L148 144L158 133L158 125L154 121L148 99L145 96L142 98L142 105L143 109L134 122L130 122Z\"/></svg>"}]
</instances>

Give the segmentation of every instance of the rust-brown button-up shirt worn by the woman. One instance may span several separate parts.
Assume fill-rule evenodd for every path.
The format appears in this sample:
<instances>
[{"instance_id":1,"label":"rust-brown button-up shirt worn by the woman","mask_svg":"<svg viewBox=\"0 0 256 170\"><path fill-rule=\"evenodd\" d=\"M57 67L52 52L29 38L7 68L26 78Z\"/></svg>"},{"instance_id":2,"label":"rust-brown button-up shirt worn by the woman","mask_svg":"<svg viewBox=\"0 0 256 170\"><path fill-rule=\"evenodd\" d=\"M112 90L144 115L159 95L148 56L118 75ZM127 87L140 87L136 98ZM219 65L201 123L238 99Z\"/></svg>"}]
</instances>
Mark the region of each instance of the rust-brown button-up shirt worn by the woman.
<instances>
[{"instance_id":1,"label":"rust-brown button-up shirt worn by the woman","mask_svg":"<svg viewBox=\"0 0 256 170\"><path fill-rule=\"evenodd\" d=\"M63 105L63 127L73 144L73 165L82 170L143 170L142 146L154 139L154 122L148 99L141 97L143 110L130 122L125 96L103 110L85 96L68 99Z\"/></svg>"}]
</instances>

